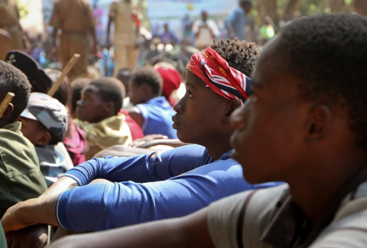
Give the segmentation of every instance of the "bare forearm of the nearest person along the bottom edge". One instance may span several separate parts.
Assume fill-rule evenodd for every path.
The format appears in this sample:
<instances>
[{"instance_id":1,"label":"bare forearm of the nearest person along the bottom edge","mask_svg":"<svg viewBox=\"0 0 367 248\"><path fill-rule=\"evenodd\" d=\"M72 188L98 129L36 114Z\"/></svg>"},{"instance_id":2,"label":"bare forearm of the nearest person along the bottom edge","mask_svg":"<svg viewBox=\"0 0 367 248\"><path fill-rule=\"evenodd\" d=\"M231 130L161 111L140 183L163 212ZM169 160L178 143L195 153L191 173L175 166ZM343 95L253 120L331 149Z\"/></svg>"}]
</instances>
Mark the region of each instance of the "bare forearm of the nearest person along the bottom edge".
<instances>
[{"instance_id":1,"label":"bare forearm of the nearest person along the bottom edge","mask_svg":"<svg viewBox=\"0 0 367 248\"><path fill-rule=\"evenodd\" d=\"M213 248L206 209L183 218L63 238L50 248Z\"/></svg>"}]
</instances>

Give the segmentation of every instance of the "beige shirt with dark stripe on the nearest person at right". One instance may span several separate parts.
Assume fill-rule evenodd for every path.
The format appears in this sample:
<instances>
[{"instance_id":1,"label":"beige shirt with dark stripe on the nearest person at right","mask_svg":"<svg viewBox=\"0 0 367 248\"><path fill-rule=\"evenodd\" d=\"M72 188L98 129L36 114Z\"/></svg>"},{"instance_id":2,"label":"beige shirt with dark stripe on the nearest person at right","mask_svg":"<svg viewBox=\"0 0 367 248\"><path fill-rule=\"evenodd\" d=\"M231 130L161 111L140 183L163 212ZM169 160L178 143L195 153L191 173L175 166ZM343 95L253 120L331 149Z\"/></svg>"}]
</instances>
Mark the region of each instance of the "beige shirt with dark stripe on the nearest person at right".
<instances>
[{"instance_id":1,"label":"beige shirt with dark stripe on the nearest person at right","mask_svg":"<svg viewBox=\"0 0 367 248\"><path fill-rule=\"evenodd\" d=\"M292 201L286 184L245 191L212 203L207 223L216 248L303 248L303 240L296 237L309 235L306 218ZM296 229L302 226L305 229ZM297 240L300 243L295 244ZM334 219L309 247L365 248L366 244L367 182L344 198Z\"/></svg>"}]
</instances>

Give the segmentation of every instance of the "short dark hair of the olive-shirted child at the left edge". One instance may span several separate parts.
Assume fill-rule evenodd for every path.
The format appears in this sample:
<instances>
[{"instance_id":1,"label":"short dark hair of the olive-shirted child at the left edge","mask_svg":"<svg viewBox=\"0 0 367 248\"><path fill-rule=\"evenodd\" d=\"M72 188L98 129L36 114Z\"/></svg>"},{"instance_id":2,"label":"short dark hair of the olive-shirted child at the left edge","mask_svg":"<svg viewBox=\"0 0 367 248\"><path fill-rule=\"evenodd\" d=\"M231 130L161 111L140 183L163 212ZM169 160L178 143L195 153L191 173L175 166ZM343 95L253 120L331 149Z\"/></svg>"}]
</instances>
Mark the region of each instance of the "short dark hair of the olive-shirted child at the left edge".
<instances>
[{"instance_id":1,"label":"short dark hair of the olive-shirted child at the left edge","mask_svg":"<svg viewBox=\"0 0 367 248\"><path fill-rule=\"evenodd\" d=\"M14 93L11 103L14 105L9 123L15 122L27 107L31 94L31 84L26 75L11 64L0 61L0 103L8 92Z\"/></svg>"}]
</instances>

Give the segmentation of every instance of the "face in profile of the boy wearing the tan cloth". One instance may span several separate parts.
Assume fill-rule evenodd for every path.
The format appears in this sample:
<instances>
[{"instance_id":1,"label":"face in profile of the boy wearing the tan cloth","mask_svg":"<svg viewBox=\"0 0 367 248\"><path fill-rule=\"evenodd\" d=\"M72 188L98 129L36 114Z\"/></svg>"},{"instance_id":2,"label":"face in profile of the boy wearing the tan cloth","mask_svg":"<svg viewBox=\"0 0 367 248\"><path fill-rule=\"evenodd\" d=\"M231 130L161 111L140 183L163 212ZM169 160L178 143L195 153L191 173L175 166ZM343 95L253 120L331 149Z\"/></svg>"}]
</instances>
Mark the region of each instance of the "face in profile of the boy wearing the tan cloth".
<instances>
[{"instance_id":1,"label":"face in profile of the boy wearing the tan cloth","mask_svg":"<svg viewBox=\"0 0 367 248\"><path fill-rule=\"evenodd\" d=\"M105 102L94 85L87 85L81 92L81 99L77 101L76 117L80 121L98 123L105 116Z\"/></svg>"}]
</instances>

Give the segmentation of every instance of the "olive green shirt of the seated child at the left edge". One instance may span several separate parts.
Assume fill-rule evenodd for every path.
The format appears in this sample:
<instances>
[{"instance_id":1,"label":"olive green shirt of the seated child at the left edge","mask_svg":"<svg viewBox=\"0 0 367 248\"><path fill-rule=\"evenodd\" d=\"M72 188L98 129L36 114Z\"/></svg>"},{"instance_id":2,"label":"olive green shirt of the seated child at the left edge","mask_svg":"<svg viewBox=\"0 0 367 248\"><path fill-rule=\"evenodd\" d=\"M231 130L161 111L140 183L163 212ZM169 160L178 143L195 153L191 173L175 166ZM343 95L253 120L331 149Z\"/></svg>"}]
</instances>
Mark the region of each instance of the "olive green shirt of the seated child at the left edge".
<instances>
[{"instance_id":1,"label":"olive green shirt of the seated child at the left edge","mask_svg":"<svg viewBox=\"0 0 367 248\"><path fill-rule=\"evenodd\" d=\"M36 150L20 128L19 122L0 128L0 218L7 208L47 189Z\"/></svg>"}]
</instances>

